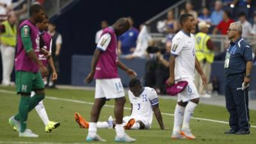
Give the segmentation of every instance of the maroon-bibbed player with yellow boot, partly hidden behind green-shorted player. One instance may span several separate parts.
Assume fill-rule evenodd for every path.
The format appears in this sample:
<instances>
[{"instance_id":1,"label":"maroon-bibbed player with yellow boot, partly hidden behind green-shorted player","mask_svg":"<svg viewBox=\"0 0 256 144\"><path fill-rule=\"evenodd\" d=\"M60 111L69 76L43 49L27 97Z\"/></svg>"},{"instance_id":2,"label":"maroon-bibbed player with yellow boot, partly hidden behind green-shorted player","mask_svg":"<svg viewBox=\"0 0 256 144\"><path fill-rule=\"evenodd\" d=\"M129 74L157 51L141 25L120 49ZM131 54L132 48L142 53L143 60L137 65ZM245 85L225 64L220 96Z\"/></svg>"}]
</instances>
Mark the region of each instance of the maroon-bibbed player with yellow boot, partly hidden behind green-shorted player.
<instances>
[{"instance_id":1,"label":"maroon-bibbed player with yellow boot, partly hidden behind green-shorted player","mask_svg":"<svg viewBox=\"0 0 256 144\"><path fill-rule=\"evenodd\" d=\"M57 72L55 70L52 56L51 56L51 45L52 45L52 37L47 31L48 26L48 17L46 16L44 21L36 24L37 28L40 31L40 50L42 54L39 54L39 60L42 61L45 67L47 67L47 63L50 65L52 69L52 81L56 81L58 78ZM45 77L43 77L44 79ZM31 97L35 95L35 92L31 93ZM52 129L56 129L60 126L60 122L52 122L49 120L48 115L45 111L43 100L41 100L35 107L36 112L42 119L45 125L45 132L51 132Z\"/></svg>"}]
</instances>

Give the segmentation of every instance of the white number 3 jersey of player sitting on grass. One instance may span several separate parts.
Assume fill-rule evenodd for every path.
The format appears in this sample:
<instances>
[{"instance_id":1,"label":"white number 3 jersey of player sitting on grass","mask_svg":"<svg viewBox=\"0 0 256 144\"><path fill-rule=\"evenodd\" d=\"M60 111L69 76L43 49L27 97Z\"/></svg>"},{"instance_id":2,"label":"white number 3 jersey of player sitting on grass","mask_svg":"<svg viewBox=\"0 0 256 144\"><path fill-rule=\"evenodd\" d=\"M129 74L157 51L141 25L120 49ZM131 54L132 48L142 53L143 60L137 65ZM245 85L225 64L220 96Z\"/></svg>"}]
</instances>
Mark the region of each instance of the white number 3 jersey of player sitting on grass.
<instances>
[{"instance_id":1,"label":"white number 3 jersey of player sitting on grass","mask_svg":"<svg viewBox=\"0 0 256 144\"><path fill-rule=\"evenodd\" d=\"M132 92L128 92L129 100L132 104L132 114L138 119L143 118L149 124L152 124L153 111L152 106L159 103L157 93L153 88L144 87L140 97L135 97Z\"/></svg>"}]
</instances>

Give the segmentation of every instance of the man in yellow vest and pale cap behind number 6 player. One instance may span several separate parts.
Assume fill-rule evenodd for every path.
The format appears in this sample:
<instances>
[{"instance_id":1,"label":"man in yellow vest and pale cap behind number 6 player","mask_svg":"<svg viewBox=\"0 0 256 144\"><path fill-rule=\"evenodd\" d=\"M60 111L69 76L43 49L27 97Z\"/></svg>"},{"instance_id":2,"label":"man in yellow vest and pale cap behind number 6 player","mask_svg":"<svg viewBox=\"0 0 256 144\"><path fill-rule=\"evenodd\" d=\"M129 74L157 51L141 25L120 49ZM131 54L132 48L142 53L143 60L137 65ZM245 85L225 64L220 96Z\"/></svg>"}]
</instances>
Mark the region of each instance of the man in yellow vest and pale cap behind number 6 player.
<instances>
[{"instance_id":1,"label":"man in yellow vest and pale cap behind number 6 player","mask_svg":"<svg viewBox=\"0 0 256 144\"><path fill-rule=\"evenodd\" d=\"M211 75L211 64L214 60L214 44L211 41L211 37L207 35L209 32L210 25L202 21L198 24L199 33L195 35L196 39L196 58L199 61L206 79L210 79ZM211 97L206 93L206 86L200 79L200 74L195 73L195 84L200 97Z\"/></svg>"}]
</instances>

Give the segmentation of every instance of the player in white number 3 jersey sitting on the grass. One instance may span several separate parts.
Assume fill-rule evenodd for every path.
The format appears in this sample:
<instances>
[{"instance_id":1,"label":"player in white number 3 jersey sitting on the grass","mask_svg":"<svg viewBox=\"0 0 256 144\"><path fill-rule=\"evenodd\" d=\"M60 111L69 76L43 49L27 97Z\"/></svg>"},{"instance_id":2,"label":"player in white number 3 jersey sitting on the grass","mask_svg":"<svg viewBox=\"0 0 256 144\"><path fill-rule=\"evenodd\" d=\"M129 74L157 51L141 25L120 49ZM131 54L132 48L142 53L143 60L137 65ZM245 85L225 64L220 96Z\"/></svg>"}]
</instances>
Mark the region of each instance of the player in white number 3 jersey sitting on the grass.
<instances>
[{"instance_id":1,"label":"player in white number 3 jersey sitting on the grass","mask_svg":"<svg viewBox=\"0 0 256 144\"><path fill-rule=\"evenodd\" d=\"M139 79L129 82L129 100L131 102L131 116L123 118L125 129L150 129L153 120L153 111L161 129L164 129L163 118L159 109L157 93L153 88L141 86ZM87 129L88 122L75 113L76 122L80 127ZM113 122L113 128L115 122ZM109 128L108 122L97 122L97 128Z\"/></svg>"}]
</instances>

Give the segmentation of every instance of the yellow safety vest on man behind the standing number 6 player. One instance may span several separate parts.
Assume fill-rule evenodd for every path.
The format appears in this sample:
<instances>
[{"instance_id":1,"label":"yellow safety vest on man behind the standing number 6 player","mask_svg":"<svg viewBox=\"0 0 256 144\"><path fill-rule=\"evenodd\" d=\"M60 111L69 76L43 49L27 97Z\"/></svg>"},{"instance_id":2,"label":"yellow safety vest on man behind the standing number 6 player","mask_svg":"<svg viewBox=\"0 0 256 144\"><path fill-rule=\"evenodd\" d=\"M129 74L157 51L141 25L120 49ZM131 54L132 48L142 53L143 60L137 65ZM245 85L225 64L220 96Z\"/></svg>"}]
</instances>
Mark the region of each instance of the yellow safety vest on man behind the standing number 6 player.
<instances>
[{"instance_id":1,"label":"yellow safety vest on man behind the standing number 6 player","mask_svg":"<svg viewBox=\"0 0 256 144\"><path fill-rule=\"evenodd\" d=\"M210 51L207 47L207 40L211 37L205 33L197 33L195 36L196 39L196 58L198 61L206 60L209 63L212 63L214 60L214 52Z\"/></svg>"}]
</instances>

